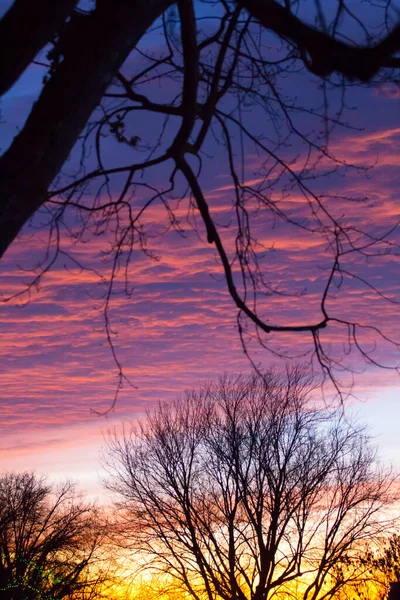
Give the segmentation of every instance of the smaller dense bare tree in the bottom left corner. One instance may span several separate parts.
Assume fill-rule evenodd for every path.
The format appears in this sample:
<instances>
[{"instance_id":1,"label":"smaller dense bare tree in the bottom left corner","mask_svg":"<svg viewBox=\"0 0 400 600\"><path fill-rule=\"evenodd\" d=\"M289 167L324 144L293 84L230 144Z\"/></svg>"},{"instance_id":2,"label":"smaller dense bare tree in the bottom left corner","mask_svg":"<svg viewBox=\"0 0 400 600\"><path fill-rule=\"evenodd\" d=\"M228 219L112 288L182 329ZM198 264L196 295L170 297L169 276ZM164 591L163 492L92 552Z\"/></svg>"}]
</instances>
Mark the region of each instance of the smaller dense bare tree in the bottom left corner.
<instances>
[{"instance_id":1,"label":"smaller dense bare tree in the bottom left corner","mask_svg":"<svg viewBox=\"0 0 400 600\"><path fill-rule=\"evenodd\" d=\"M32 473L0 478L0 595L4 600L94 600L106 570L99 515L66 483Z\"/></svg>"}]
</instances>

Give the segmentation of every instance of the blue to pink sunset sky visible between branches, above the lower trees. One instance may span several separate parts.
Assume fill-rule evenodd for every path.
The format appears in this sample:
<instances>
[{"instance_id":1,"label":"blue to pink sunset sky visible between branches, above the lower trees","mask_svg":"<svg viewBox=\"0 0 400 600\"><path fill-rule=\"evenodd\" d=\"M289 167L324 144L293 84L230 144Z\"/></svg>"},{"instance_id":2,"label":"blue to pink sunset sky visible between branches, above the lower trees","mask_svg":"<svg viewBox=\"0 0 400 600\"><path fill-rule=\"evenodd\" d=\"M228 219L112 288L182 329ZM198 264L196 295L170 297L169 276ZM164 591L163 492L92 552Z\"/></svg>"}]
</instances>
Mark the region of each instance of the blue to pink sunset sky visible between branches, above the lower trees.
<instances>
[{"instance_id":1,"label":"blue to pink sunset sky visible between branches, above the lower trees","mask_svg":"<svg viewBox=\"0 0 400 600\"><path fill-rule=\"evenodd\" d=\"M146 43L151 46L156 41ZM40 68L32 67L3 99L3 148L22 126L40 89L41 77ZM302 81L294 78L287 85L305 102L314 102L314 97L309 97L311 88ZM168 89L155 91L162 97L168 93ZM398 88L390 85L351 89L346 119L352 128L338 128L330 150L338 160L359 168L340 168L315 182L317 189L335 195L332 210L346 213L357 226L375 233L390 228L399 217L399 99ZM259 115L249 119L257 125ZM146 139L146 135L157 133L159 123L145 115L130 126ZM120 160L111 142L107 148L107 160ZM233 230L227 207L231 206L232 185L221 148L210 141L209 150L212 158L203 172L202 184L213 214L218 214L221 235L229 244ZM300 147L288 148L290 152L301 162ZM245 179L254 180L262 157L250 148L245 155ZM317 174L322 176L324 169L323 163L317 165ZM163 176L162 170L152 175L157 184ZM349 205L340 199L345 195L365 200ZM144 200L138 192L138 206ZM293 215L305 211L304 201L295 191L284 203ZM107 235L92 236L86 243L74 244L66 237L63 248L70 256L60 256L40 286L9 301L8 297L26 289L32 280L29 269L43 257L45 213L35 217L34 227L28 226L6 253L0 264L0 471L34 469L52 481L68 477L90 496L101 499L100 455L109 428L144 418L158 401L168 401L224 372L249 372L237 332L236 311L215 250L206 243L201 227L196 232L193 219L187 218L187 198L176 214L183 235L167 230L162 205L154 205L146 213L152 257L139 249L134 252L129 277L133 292L129 297L117 294L112 300L113 342L132 386L125 382L115 408L106 416L98 413L112 405L118 371L105 335L105 287L98 272L109 272L106 250L110 239ZM273 223L268 214L257 217L255 230L267 249L263 268L268 280L280 289L302 294L266 298L263 308L271 318L286 322L315 316L326 281L326 244L298 229ZM396 239L398 242L394 232ZM398 255L351 260L354 272L368 278L392 302L349 278L336 297L329 299L335 315L351 314L357 321L377 325L400 340ZM81 270L74 261L86 268ZM342 347L340 329L329 329L324 336L327 344ZM399 364L393 346L379 344L373 350L371 337L363 338L362 343L385 364ZM274 348L292 354L293 350L301 354L310 348L309 340L299 336L280 338L276 344ZM254 360L263 368L284 365L271 353L250 346ZM356 372L354 397L348 400L351 411L370 427L381 455L400 467L397 373L365 365L354 353L345 361Z\"/></svg>"}]
</instances>

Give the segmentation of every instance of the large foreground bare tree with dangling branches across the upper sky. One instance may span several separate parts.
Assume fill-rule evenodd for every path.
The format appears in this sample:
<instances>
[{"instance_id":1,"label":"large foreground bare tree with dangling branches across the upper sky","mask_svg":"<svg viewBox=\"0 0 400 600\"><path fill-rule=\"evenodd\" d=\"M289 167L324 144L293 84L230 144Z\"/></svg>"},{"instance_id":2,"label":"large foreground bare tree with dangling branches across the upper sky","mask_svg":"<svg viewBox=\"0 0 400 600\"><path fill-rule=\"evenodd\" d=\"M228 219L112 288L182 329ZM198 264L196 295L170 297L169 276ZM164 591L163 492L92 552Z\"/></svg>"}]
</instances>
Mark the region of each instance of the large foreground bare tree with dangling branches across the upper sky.
<instances>
[{"instance_id":1,"label":"large foreground bare tree with dangling branches across the upper sky","mask_svg":"<svg viewBox=\"0 0 400 600\"><path fill-rule=\"evenodd\" d=\"M120 383L123 372L109 323L115 287L122 283L129 288L132 253L135 248L146 251L146 210L160 203L167 227L179 231L177 208L183 201L189 221L200 234L204 229L216 251L246 353L249 340L256 339L282 354L279 340L296 334L308 336L309 352L335 385L333 371L352 349L368 364L395 368L396 361L388 364L370 350L372 337L397 352L399 344L389 332L335 312L332 297L346 280L396 302L352 263L355 256L370 264L397 251L396 225L386 231L377 232L373 224L360 230L357 220L352 222L341 207L335 209L336 194L314 185L321 163L324 176L349 168L329 146L332 129L342 123L346 82L375 85L393 79L399 66L400 30L391 2L370 3L380 25L373 30L357 7L342 0L330 5L329 14L319 0L307 3L311 17L304 12L306 3L298 0L205 2L198 14L192 0L176 7L171 0L101 0L87 11L71 0L56 4L35 3L40 27L29 28L22 45L21 27L27 29L32 3L15 0L0 23L3 54L7 49L9 56L0 76L2 90L9 89L46 42L51 44L39 61L44 75L40 96L0 158L0 254L44 204L49 240L34 284L63 253L65 235L86 239L108 232L111 269L104 309ZM149 28L151 35L160 36L153 52L140 46ZM354 33L351 42L348 31ZM305 70L321 99L310 105L291 97L286 86L288 78ZM155 81L167 89L161 98L154 93ZM248 115L250 108L259 115L256 122ZM153 141L137 134L143 112L156 124ZM265 123L261 131L260 123ZM203 165L216 144L231 178L231 239L216 221L204 188ZM81 160L66 176L61 169L76 145ZM294 151L288 156L291 145ZM94 160L88 158L90 147ZM123 164L115 164L110 151L117 147L125 150ZM247 152L259 156L256 183L245 177ZM154 180L163 183L155 186ZM285 206L292 194L303 199L300 216ZM325 245L316 265L319 304L299 322L271 317L271 296L291 297L297 310L304 304L303 290L282 286L265 265L268 248L259 240L260 215L264 228L281 222L293 235L301 231ZM327 327L340 331L342 356L331 352L324 337Z\"/></svg>"}]
</instances>

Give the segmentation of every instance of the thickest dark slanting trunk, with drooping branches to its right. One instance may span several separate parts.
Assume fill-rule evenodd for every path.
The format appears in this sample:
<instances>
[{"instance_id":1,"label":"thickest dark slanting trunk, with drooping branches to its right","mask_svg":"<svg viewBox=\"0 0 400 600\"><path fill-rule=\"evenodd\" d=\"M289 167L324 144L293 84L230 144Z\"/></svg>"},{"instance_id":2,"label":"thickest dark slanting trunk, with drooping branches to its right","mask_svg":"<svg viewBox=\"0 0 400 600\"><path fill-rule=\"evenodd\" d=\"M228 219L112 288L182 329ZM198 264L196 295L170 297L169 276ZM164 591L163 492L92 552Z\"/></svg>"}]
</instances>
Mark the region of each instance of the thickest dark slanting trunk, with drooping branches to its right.
<instances>
[{"instance_id":1,"label":"thickest dark slanting trunk, with drooping branches to its right","mask_svg":"<svg viewBox=\"0 0 400 600\"><path fill-rule=\"evenodd\" d=\"M61 39L63 61L0 159L0 256L47 198L111 78L171 0L106 0Z\"/></svg>"}]
</instances>

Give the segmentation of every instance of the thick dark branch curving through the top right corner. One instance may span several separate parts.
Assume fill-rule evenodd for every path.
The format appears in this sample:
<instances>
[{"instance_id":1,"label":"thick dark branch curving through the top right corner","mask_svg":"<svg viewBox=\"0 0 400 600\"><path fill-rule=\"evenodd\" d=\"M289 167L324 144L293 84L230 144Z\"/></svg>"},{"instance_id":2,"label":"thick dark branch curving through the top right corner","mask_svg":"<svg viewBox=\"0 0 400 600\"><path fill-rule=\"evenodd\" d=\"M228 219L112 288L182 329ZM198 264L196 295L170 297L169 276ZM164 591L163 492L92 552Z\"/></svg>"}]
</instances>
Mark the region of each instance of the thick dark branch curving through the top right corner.
<instances>
[{"instance_id":1,"label":"thick dark branch curving through the top right corner","mask_svg":"<svg viewBox=\"0 0 400 600\"><path fill-rule=\"evenodd\" d=\"M350 79L369 81L384 67L400 67L400 25L381 42L369 47L350 46L303 23L275 0L240 0L267 29L293 42L307 57L307 68L320 77L338 72Z\"/></svg>"}]
</instances>

